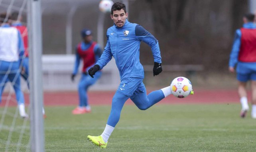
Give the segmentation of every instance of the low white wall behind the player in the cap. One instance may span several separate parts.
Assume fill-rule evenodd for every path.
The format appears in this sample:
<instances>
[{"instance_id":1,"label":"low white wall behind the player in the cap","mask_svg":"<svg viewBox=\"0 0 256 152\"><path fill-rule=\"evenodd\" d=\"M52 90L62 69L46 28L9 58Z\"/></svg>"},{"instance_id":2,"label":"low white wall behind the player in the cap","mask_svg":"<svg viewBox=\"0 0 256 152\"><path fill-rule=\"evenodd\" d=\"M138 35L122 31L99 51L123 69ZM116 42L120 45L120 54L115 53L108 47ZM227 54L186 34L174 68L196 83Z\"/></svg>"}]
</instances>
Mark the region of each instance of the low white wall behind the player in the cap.
<instances>
[{"instance_id":1,"label":"low white wall behind the player in the cap","mask_svg":"<svg viewBox=\"0 0 256 152\"><path fill-rule=\"evenodd\" d=\"M75 55L43 55L42 63L44 90L77 90L83 63L80 63L79 74L75 77L75 82L72 82ZM119 83L119 72L112 58L103 68L101 78L90 89L116 90Z\"/></svg>"}]
</instances>

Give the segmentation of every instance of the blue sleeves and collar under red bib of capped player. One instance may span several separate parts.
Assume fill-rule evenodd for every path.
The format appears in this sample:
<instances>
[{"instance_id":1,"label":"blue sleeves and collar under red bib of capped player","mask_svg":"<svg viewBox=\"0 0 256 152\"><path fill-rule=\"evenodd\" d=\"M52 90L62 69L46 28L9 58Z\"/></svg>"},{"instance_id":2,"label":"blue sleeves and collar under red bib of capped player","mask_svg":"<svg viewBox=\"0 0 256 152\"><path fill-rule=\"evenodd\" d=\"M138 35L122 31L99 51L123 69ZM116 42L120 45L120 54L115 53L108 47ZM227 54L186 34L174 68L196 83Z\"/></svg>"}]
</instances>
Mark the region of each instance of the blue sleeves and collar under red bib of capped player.
<instances>
[{"instance_id":1,"label":"blue sleeves and collar under red bib of capped player","mask_svg":"<svg viewBox=\"0 0 256 152\"><path fill-rule=\"evenodd\" d=\"M85 42L82 42L81 43L81 49L83 51L86 51L89 47L91 47L93 42L91 43L85 43ZM79 54L77 53L77 47L76 47L76 60L75 60L75 66L74 66L74 70L73 70L73 74L77 74L78 72L78 68L79 68L79 65L80 65L80 60L82 59ZM93 49L93 52L95 53L95 61L98 60L98 58L100 58L100 55L102 53L102 50L100 49L100 46L98 44L95 45L94 49ZM90 67L87 68L87 70L89 69ZM87 71L86 70L86 71Z\"/></svg>"}]
</instances>

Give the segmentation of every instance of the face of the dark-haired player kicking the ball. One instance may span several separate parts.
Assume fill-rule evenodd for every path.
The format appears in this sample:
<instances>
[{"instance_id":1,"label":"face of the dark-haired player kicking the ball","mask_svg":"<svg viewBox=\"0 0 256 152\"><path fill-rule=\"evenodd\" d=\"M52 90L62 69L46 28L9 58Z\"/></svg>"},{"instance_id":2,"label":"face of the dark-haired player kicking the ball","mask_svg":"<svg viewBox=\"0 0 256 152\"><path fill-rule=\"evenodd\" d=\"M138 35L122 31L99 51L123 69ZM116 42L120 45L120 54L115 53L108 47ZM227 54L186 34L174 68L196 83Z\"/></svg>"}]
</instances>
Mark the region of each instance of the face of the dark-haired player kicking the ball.
<instances>
[{"instance_id":1,"label":"face of the dark-haired player kicking the ball","mask_svg":"<svg viewBox=\"0 0 256 152\"><path fill-rule=\"evenodd\" d=\"M113 15L110 15L117 27L123 27L128 17L128 13L124 12L124 9L113 11Z\"/></svg>"}]
</instances>

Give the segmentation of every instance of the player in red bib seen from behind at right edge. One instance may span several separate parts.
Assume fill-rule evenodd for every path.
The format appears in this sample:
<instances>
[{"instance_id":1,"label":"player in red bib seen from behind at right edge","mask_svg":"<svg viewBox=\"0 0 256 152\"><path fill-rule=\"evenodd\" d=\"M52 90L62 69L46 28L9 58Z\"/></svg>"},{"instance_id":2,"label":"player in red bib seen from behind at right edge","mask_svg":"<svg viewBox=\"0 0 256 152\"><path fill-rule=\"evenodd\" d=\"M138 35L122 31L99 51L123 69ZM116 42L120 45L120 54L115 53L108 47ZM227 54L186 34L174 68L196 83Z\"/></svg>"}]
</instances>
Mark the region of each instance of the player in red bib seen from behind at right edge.
<instances>
[{"instance_id":1,"label":"player in red bib seen from behind at right edge","mask_svg":"<svg viewBox=\"0 0 256 152\"><path fill-rule=\"evenodd\" d=\"M256 24L254 14L243 17L244 25L235 33L230 53L229 71L235 72L238 80L238 95L242 105L240 116L244 118L249 110L246 83L251 81L252 118L256 119Z\"/></svg>"}]
</instances>

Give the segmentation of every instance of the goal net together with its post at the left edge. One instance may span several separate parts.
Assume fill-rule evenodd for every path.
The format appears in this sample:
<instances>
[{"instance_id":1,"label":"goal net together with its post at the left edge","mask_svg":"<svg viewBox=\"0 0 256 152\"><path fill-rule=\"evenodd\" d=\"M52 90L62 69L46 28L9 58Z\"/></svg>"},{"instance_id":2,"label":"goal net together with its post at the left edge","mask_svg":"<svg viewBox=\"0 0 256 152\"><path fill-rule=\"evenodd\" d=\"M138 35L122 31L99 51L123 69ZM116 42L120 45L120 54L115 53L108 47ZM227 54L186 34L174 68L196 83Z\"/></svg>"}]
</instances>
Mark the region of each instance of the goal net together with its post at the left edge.
<instances>
[{"instance_id":1,"label":"goal net together with its post at the left edge","mask_svg":"<svg viewBox=\"0 0 256 152\"><path fill-rule=\"evenodd\" d=\"M44 151L40 2L0 0L1 152Z\"/></svg>"}]
</instances>

